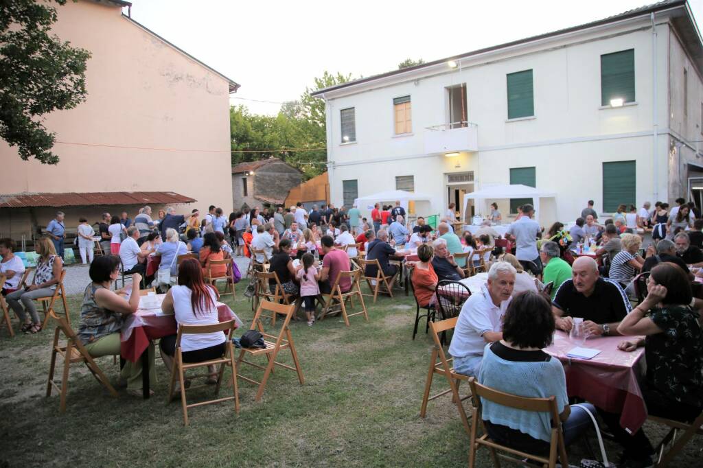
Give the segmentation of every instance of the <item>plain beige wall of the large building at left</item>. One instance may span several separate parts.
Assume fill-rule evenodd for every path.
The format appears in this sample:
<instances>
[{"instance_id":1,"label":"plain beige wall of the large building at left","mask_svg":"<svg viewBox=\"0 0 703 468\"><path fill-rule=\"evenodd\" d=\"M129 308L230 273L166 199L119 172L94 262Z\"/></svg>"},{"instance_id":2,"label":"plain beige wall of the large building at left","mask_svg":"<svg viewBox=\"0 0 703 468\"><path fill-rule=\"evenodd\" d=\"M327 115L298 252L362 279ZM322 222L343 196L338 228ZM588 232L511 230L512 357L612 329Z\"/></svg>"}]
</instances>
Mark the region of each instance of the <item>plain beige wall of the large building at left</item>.
<instances>
[{"instance_id":1,"label":"plain beige wall of the large building at left","mask_svg":"<svg viewBox=\"0 0 703 468\"><path fill-rule=\"evenodd\" d=\"M178 205L180 213L209 204L231 212L228 80L119 7L69 1L56 10L58 37L92 53L88 98L46 118L56 132L56 166L22 161L0 140L0 193L172 191L198 200Z\"/></svg>"}]
</instances>

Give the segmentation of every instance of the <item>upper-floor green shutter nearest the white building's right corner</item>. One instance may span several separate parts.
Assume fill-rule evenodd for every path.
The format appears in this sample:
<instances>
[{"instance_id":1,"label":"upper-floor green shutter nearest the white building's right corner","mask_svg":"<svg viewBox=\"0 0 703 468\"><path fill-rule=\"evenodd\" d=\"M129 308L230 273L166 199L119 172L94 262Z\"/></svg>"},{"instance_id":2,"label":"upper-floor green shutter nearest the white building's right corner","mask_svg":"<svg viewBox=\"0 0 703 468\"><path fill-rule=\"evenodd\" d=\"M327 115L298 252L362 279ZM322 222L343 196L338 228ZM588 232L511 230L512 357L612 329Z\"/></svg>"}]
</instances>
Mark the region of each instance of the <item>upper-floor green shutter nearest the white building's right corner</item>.
<instances>
[{"instance_id":1,"label":"upper-floor green shutter nearest the white building's right corner","mask_svg":"<svg viewBox=\"0 0 703 468\"><path fill-rule=\"evenodd\" d=\"M600 105L611 99L635 102L635 49L600 56Z\"/></svg>"}]
</instances>

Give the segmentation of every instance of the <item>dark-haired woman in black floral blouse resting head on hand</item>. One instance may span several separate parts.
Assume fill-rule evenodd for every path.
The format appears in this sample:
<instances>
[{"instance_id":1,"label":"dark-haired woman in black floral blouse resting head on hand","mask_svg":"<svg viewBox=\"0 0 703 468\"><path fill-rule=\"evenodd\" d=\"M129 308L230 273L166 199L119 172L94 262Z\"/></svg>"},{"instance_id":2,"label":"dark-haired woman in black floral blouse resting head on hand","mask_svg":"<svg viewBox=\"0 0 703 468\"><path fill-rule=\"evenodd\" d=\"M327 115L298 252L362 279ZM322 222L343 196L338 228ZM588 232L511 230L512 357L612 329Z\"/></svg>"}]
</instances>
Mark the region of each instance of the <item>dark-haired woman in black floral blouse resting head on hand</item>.
<instances>
[{"instance_id":1,"label":"dark-haired woman in black floral blouse resting head on hand","mask_svg":"<svg viewBox=\"0 0 703 468\"><path fill-rule=\"evenodd\" d=\"M682 422L691 422L703 410L703 332L691 303L690 281L681 267L659 264L652 268L647 297L617 328L620 334L645 335L618 347L634 351L645 346L647 375L640 389L649 414ZM620 427L619 415L600 413L625 448L624 466L651 466L654 450L644 432L630 435Z\"/></svg>"}]
</instances>

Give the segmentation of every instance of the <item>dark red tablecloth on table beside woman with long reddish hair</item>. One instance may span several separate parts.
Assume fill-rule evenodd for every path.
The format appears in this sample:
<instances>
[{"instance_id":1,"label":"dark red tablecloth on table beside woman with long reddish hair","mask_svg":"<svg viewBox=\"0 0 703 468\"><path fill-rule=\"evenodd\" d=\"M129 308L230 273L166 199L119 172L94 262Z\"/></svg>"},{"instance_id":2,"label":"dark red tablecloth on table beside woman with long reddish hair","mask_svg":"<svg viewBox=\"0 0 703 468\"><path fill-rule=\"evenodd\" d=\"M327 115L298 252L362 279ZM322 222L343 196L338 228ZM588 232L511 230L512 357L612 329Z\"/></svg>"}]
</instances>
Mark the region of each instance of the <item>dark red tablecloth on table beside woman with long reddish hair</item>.
<instances>
[{"instance_id":1,"label":"dark red tablecloth on table beside woman with long reddish hair","mask_svg":"<svg viewBox=\"0 0 703 468\"><path fill-rule=\"evenodd\" d=\"M161 298L166 294L157 294ZM176 334L178 325L176 318L172 315L157 315L160 309L142 309L129 316L122 326L122 344L120 354L123 358L133 363L141 356L141 353L149 346L152 339L167 337L169 334ZM241 327L242 321L227 304L217 303L217 318L220 322L235 320L236 327Z\"/></svg>"}]
</instances>

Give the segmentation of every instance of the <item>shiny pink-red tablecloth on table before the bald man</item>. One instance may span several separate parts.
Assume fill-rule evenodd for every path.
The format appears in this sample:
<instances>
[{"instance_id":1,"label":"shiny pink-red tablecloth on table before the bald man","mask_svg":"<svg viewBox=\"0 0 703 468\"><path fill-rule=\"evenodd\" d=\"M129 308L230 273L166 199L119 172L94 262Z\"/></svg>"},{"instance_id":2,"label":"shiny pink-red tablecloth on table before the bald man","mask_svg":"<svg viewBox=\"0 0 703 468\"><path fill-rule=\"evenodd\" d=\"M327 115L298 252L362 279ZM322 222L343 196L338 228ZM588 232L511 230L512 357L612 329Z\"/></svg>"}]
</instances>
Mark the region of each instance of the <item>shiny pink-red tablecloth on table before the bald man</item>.
<instances>
[{"instance_id":1,"label":"shiny pink-red tablecloth on table before the bald man","mask_svg":"<svg viewBox=\"0 0 703 468\"><path fill-rule=\"evenodd\" d=\"M617 349L618 343L628 338L633 337L588 339L584 347L600 349L600 354L590 360L577 359L566 353L580 344L559 330L545 351L564 365L569 396L583 398L606 411L621 412L621 427L634 433L647 419L647 407L637 383L637 376L643 372L645 349L629 353Z\"/></svg>"}]
</instances>

